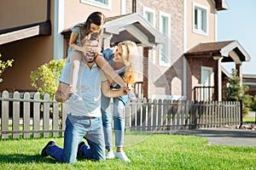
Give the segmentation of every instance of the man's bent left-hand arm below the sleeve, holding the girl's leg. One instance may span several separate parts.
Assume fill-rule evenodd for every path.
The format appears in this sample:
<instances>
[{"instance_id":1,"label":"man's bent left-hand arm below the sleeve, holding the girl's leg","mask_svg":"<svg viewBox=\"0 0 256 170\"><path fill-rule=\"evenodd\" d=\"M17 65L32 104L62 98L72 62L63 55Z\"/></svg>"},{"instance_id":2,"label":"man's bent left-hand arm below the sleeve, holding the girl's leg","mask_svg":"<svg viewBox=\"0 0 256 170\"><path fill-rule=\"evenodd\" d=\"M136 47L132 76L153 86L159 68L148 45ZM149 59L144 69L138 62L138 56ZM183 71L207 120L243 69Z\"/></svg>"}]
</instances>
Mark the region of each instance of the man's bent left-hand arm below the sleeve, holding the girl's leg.
<instances>
[{"instance_id":1,"label":"man's bent left-hand arm below the sleeve, holding the girl's leg","mask_svg":"<svg viewBox=\"0 0 256 170\"><path fill-rule=\"evenodd\" d=\"M60 82L58 89L55 93L55 100L58 102L65 102L70 96L74 93L73 87L69 87L69 85Z\"/></svg>"}]
</instances>

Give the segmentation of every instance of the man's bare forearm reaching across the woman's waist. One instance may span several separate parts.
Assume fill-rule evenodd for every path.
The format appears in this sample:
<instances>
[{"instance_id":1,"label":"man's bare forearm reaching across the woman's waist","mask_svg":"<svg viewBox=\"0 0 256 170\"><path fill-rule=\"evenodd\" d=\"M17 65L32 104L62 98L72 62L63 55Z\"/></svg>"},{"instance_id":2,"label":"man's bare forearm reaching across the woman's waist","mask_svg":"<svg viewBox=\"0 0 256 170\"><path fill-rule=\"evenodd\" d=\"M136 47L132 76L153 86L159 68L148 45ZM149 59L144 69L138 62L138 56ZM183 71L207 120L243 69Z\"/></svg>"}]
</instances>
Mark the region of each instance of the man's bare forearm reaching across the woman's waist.
<instances>
[{"instance_id":1,"label":"man's bare forearm reaching across the woman's waist","mask_svg":"<svg viewBox=\"0 0 256 170\"><path fill-rule=\"evenodd\" d=\"M124 88L111 89L109 87L108 81L102 82L102 94L108 98L116 98L120 95L125 95L127 92Z\"/></svg>"}]
</instances>

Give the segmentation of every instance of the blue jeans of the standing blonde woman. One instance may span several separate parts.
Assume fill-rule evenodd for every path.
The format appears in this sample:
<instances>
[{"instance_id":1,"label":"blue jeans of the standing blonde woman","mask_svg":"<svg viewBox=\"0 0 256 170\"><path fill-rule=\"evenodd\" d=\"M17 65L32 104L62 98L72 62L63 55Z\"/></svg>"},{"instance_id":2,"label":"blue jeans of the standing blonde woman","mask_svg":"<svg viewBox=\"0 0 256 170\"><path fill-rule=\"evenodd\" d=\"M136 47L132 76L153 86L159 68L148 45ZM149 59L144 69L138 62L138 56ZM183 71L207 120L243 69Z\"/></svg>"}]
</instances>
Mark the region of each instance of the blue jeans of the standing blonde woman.
<instances>
[{"instance_id":1,"label":"blue jeans of the standing blonde woman","mask_svg":"<svg viewBox=\"0 0 256 170\"><path fill-rule=\"evenodd\" d=\"M113 148L112 141L112 116L110 110L110 99L102 95L102 125L105 137L106 149ZM119 98L113 98L113 129L115 136L115 147L123 147L125 136L124 103Z\"/></svg>"}]
</instances>

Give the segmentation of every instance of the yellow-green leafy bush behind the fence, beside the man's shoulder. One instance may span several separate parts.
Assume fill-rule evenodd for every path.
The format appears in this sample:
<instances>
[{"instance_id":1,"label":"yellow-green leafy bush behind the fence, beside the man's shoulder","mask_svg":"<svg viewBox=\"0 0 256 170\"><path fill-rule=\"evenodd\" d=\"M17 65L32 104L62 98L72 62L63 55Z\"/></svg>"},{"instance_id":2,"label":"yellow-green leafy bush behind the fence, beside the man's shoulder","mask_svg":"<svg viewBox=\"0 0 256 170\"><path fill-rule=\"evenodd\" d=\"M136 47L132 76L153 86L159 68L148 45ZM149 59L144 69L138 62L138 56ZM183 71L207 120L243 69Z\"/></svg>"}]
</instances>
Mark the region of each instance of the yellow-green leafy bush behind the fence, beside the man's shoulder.
<instances>
[{"instance_id":1,"label":"yellow-green leafy bush behind the fence, beside the man's shoulder","mask_svg":"<svg viewBox=\"0 0 256 170\"><path fill-rule=\"evenodd\" d=\"M32 87L37 88L42 95L49 94L50 99L53 99L64 65L65 59L52 59L48 64L39 66L38 70L31 71Z\"/></svg>"}]
</instances>

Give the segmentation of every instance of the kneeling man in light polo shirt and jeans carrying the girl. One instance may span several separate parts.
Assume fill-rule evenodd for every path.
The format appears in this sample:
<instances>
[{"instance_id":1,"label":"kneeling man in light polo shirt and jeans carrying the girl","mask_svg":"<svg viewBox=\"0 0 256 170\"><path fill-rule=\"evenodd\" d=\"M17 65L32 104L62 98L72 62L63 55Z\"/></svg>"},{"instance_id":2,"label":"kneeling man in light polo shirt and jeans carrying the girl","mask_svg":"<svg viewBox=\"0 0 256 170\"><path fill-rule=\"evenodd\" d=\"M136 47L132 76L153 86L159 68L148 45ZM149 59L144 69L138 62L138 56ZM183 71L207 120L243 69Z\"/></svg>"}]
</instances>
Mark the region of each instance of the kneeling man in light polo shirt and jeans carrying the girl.
<instances>
[{"instance_id":1,"label":"kneeling man in light polo shirt and jeans carrying the girl","mask_svg":"<svg viewBox=\"0 0 256 170\"><path fill-rule=\"evenodd\" d=\"M97 54L93 48L97 44L91 41L88 46L91 49L83 54L83 62L79 67L77 91L74 92L74 89L69 87L71 65L67 64L61 72L60 84L55 94L55 99L59 102L66 101L73 93L82 97L82 100L68 100L64 148L58 147L54 140L50 140L42 150L42 156L51 156L68 163L74 163L77 154L91 160L105 160L101 95L111 98L127 93L124 89L109 88L107 77L95 63ZM81 142L83 137L88 144Z\"/></svg>"}]
</instances>

